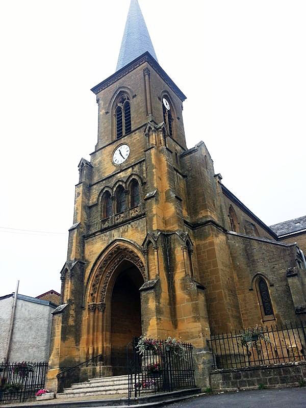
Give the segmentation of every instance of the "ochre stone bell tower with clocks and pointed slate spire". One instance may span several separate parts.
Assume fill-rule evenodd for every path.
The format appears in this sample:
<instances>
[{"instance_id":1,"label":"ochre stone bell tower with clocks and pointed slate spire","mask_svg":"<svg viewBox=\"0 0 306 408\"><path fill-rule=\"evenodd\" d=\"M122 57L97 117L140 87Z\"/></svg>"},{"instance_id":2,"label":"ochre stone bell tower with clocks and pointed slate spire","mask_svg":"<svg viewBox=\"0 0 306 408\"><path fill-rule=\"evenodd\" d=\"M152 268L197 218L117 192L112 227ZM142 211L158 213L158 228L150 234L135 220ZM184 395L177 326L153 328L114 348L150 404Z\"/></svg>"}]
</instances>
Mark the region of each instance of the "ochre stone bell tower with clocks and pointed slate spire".
<instances>
[{"instance_id":1,"label":"ochre stone bell tower with clocks and pointed slate spire","mask_svg":"<svg viewBox=\"0 0 306 408\"><path fill-rule=\"evenodd\" d=\"M116 72L91 90L98 140L90 162L79 164L61 272L63 305L53 320L50 388L61 367L98 354L104 375L124 374L126 344L141 334L181 337L197 350L209 335L185 225L186 96L159 65L137 0L131 0ZM90 366L84 370L93 375Z\"/></svg>"}]
</instances>

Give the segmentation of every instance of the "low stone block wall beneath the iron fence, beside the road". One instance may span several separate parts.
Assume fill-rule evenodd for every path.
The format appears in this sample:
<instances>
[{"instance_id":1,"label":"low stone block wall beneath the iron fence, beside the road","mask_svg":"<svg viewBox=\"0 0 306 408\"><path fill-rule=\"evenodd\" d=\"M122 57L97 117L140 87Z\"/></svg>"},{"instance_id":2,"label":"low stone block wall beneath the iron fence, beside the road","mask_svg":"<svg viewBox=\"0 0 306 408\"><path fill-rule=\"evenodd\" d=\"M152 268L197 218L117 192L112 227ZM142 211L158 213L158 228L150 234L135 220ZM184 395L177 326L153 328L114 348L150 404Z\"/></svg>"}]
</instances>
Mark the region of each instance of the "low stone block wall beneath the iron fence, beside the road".
<instances>
[{"instance_id":1,"label":"low stone block wall beneath the iron fence, beside the road","mask_svg":"<svg viewBox=\"0 0 306 408\"><path fill-rule=\"evenodd\" d=\"M259 387L297 387L305 378L305 361L273 366L214 370L210 373L213 391L253 390Z\"/></svg>"}]
</instances>

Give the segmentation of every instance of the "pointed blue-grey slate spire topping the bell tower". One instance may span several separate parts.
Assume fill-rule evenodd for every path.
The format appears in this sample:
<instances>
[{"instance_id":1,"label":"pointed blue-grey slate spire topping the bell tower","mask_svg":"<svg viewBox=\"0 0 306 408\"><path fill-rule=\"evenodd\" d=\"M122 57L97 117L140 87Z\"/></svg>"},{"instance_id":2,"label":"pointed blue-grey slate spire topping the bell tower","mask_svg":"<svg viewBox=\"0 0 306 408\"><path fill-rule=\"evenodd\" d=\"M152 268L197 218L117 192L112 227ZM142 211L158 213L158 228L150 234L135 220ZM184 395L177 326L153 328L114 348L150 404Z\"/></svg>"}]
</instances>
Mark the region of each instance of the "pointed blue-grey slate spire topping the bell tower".
<instances>
[{"instance_id":1,"label":"pointed blue-grey slate spire topping the bell tower","mask_svg":"<svg viewBox=\"0 0 306 408\"><path fill-rule=\"evenodd\" d=\"M138 0L131 0L116 71L124 67L126 64L129 64L129 62L135 60L135 58L139 57L146 51L148 51L157 61L155 50L140 10Z\"/></svg>"}]
</instances>

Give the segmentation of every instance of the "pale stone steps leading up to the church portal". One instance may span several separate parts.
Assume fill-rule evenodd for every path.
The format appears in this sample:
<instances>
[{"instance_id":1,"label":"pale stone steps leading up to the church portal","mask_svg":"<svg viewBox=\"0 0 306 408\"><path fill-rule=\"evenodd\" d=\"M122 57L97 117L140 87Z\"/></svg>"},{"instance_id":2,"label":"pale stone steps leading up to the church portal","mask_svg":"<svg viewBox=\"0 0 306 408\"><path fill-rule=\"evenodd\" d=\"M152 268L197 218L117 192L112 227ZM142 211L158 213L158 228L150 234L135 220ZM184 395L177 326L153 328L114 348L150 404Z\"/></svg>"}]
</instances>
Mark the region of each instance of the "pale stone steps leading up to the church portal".
<instances>
[{"instance_id":1,"label":"pale stone steps leading up to the church portal","mask_svg":"<svg viewBox=\"0 0 306 408\"><path fill-rule=\"evenodd\" d=\"M122 398L127 396L129 391L128 376L118 375L115 377L92 378L86 382L72 384L70 388L65 388L58 399L73 397L90 397L94 395L110 395L112 397ZM123 394L123 395L122 395Z\"/></svg>"}]
</instances>

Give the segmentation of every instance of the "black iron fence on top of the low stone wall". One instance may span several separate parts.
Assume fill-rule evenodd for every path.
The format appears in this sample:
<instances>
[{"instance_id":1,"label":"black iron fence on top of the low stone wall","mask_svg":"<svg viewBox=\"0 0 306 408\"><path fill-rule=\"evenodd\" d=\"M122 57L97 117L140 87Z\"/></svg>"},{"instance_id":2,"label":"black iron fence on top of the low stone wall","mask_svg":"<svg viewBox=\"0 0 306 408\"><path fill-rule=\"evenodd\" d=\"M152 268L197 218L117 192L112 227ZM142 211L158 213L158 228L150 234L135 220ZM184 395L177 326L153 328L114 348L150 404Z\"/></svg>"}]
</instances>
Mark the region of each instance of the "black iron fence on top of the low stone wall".
<instances>
[{"instance_id":1,"label":"black iron fence on top of the low stone wall","mask_svg":"<svg viewBox=\"0 0 306 408\"><path fill-rule=\"evenodd\" d=\"M215 335L209 343L216 369L303 361L306 322Z\"/></svg>"}]
</instances>

